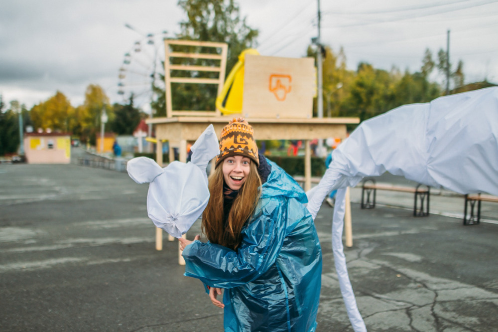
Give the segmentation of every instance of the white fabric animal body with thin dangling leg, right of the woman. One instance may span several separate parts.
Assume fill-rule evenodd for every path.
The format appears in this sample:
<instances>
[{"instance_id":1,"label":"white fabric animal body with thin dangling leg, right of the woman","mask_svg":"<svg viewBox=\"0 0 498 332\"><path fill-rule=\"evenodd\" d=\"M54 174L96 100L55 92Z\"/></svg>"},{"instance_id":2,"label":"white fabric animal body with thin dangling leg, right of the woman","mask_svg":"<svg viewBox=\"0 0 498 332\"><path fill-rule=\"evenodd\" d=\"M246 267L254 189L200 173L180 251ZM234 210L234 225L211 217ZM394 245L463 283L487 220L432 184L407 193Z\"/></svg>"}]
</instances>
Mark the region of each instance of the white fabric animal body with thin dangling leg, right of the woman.
<instances>
[{"instance_id":1,"label":"white fabric animal body with thin dangling leg, right of the woman","mask_svg":"<svg viewBox=\"0 0 498 332\"><path fill-rule=\"evenodd\" d=\"M334 151L320 183L307 192L316 216L334 189L385 171L461 194L498 195L498 88L404 105L363 122ZM367 331L349 281L342 246L345 189L337 193L332 246L341 292L355 331Z\"/></svg>"}]
</instances>

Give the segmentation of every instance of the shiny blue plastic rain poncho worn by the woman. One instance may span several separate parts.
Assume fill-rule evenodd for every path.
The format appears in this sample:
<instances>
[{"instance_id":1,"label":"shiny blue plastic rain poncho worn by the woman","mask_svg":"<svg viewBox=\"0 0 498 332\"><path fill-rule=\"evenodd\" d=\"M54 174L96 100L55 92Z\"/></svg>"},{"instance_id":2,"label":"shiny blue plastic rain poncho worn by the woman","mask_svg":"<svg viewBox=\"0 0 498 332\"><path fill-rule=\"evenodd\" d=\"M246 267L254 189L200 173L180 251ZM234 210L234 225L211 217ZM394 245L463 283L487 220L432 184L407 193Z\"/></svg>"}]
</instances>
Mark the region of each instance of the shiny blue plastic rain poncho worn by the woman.
<instances>
[{"instance_id":1,"label":"shiny blue plastic rain poncho worn by the woman","mask_svg":"<svg viewBox=\"0 0 498 332\"><path fill-rule=\"evenodd\" d=\"M322 253L301 187L276 164L237 251L194 241L185 276L224 288L225 331L315 331Z\"/></svg>"}]
</instances>

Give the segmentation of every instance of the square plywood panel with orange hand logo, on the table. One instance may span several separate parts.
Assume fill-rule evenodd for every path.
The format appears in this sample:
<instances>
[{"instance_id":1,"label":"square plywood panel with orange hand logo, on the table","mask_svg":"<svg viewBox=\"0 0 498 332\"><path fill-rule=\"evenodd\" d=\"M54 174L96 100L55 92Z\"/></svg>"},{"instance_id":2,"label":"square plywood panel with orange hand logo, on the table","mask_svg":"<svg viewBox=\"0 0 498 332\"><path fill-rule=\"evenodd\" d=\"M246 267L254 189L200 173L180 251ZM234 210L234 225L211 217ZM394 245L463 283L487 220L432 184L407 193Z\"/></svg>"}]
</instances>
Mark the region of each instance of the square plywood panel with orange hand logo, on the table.
<instances>
[{"instance_id":1,"label":"square plywood panel with orange hand logo, on the table","mask_svg":"<svg viewBox=\"0 0 498 332\"><path fill-rule=\"evenodd\" d=\"M242 114L248 119L310 119L314 90L313 58L246 55Z\"/></svg>"}]
</instances>

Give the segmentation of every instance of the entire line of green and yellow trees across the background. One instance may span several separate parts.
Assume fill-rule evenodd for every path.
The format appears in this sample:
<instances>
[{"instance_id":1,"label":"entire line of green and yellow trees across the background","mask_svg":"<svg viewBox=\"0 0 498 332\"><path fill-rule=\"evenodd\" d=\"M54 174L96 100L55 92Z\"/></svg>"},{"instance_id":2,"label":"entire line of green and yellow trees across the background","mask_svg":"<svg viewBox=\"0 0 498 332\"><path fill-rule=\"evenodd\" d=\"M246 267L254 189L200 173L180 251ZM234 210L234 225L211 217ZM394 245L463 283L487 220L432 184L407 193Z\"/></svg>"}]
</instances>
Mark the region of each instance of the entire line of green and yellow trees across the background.
<instances>
[{"instance_id":1,"label":"entire line of green and yellow trees across the background","mask_svg":"<svg viewBox=\"0 0 498 332\"><path fill-rule=\"evenodd\" d=\"M249 27L246 18L241 17L235 0L179 0L178 5L185 11L186 19L180 22L176 38L228 43L227 73L237 63L243 50L257 47L258 30ZM442 49L436 57L426 49L420 69L414 73L408 70L401 72L398 68L389 71L377 69L367 62L359 63L355 70L350 70L346 67L346 54L342 48L334 51L327 45L310 45L305 50L306 56L315 59L316 52L323 55L325 117L359 117L364 121L401 105L429 102L446 93L443 89L446 79L451 80L453 87L449 93L493 85L486 80L466 85L463 62L459 61L453 68ZM434 70L443 77L443 85L431 81ZM447 70L451 73L449 77L443 75ZM196 72L187 72L186 75L198 77ZM164 90L157 86L151 86L151 89L154 92L151 101L154 116L165 116ZM209 85L176 84L172 97L173 109L210 110L215 107L216 89ZM316 104L315 100L315 115ZM67 97L57 91L30 110L21 106L20 113L24 131L28 126L34 131L50 128L55 132L70 132L83 143L94 145L104 110L109 118L106 130L118 135L130 135L146 116L134 107L132 95L128 96L125 104L111 105L102 87L95 84L87 87L85 101L77 107L73 107ZM15 133L18 133L18 114L4 104L0 95L0 155L16 151L19 138Z\"/></svg>"}]
</instances>

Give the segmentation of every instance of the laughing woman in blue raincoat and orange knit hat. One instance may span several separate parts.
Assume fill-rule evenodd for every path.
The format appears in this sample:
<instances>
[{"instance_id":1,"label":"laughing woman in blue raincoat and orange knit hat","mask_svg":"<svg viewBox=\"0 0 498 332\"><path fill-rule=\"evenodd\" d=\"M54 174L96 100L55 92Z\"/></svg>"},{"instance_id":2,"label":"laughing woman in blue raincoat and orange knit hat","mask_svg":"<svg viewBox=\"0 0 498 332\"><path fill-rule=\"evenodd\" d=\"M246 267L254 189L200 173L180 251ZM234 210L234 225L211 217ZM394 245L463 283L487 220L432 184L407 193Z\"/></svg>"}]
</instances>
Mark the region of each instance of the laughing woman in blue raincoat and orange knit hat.
<instances>
[{"instance_id":1,"label":"laughing woman in blue raincoat and orange knit hat","mask_svg":"<svg viewBox=\"0 0 498 332\"><path fill-rule=\"evenodd\" d=\"M225 331L315 331L322 254L306 194L258 156L242 118L225 126L220 151L203 213L209 242L179 239L185 275L224 308Z\"/></svg>"}]
</instances>

